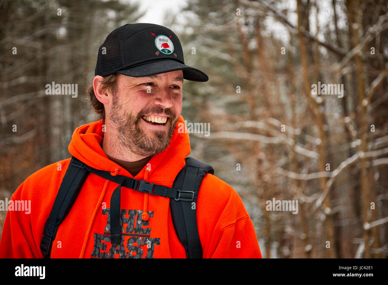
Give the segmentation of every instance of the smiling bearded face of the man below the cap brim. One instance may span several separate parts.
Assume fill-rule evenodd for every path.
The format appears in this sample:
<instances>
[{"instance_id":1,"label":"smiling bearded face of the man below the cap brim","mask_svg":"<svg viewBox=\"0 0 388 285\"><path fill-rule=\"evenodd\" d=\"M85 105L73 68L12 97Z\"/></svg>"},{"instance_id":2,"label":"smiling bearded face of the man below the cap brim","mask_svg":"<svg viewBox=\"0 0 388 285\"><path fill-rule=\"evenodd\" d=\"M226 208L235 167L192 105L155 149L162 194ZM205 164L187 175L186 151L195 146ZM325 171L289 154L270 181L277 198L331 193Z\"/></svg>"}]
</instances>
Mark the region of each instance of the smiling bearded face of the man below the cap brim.
<instances>
[{"instance_id":1,"label":"smiling bearded face of the man below the cap brim","mask_svg":"<svg viewBox=\"0 0 388 285\"><path fill-rule=\"evenodd\" d=\"M168 147L182 111L182 84L182 70L148 77L120 74L106 113L123 147L140 156Z\"/></svg>"}]
</instances>

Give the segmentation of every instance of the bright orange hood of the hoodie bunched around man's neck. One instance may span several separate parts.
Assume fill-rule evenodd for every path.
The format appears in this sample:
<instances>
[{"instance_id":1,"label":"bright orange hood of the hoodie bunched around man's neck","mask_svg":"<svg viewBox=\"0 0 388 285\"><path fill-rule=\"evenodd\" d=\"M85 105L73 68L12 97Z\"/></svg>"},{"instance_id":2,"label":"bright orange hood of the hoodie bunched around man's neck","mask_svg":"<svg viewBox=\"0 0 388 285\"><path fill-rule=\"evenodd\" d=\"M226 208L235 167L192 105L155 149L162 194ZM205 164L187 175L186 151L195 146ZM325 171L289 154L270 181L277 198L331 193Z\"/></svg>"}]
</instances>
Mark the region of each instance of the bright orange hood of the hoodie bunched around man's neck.
<instances>
[{"instance_id":1,"label":"bright orange hood of the hoodie bunched around man's neck","mask_svg":"<svg viewBox=\"0 0 388 285\"><path fill-rule=\"evenodd\" d=\"M117 174L140 180L144 178L147 165L151 164L148 180L167 187L172 186L178 172L185 165L185 157L191 152L189 135L182 115L179 116L168 147L163 152L152 156L135 177L122 166L111 161L102 150L101 145L104 140L103 124L104 121L100 120L76 128L69 144L70 154L92 168L111 171L112 173L119 169ZM182 129L182 126L184 126L185 131L178 132L178 129Z\"/></svg>"}]
</instances>

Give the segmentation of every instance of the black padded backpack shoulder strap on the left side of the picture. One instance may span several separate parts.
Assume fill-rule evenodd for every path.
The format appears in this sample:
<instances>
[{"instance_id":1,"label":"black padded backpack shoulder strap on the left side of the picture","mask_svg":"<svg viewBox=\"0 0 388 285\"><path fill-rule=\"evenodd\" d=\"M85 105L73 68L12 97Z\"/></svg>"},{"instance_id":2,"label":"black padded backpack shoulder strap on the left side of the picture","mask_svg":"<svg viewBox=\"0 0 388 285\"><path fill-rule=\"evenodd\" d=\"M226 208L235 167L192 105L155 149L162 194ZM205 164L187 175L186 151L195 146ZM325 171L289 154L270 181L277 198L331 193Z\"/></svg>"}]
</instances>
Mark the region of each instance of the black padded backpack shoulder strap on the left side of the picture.
<instances>
[{"instance_id":1,"label":"black padded backpack shoulder strap on the left side of the picture","mask_svg":"<svg viewBox=\"0 0 388 285\"><path fill-rule=\"evenodd\" d=\"M43 230L40 250L44 258L50 258L52 242L57 235L58 226L73 206L88 174L89 171L82 166L82 162L72 157Z\"/></svg>"}]
</instances>

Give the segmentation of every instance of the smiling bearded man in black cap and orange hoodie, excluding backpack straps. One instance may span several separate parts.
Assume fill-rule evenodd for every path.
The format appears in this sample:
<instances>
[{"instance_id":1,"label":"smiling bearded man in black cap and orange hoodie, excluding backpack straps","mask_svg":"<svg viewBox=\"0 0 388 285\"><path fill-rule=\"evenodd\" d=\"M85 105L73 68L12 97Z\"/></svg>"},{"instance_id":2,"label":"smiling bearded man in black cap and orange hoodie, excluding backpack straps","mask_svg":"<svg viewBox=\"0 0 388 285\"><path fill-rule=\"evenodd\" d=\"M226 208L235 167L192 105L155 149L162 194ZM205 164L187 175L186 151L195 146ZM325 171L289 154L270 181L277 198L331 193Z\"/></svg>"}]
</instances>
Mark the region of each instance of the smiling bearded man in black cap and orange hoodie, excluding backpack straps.
<instances>
[{"instance_id":1,"label":"smiling bearded man in black cap and orange hoodie, excluding backpack straps","mask_svg":"<svg viewBox=\"0 0 388 285\"><path fill-rule=\"evenodd\" d=\"M74 131L70 154L109 176L171 188L190 153L187 132L178 131L184 124L184 79L204 82L208 77L184 64L182 47L170 29L147 23L115 29L99 48L88 89L100 120ZM46 166L17 188L12 201L31 200L31 212L7 213L1 257L43 257L43 231L69 164L65 159ZM57 227L50 257L186 258L170 199L123 187L114 206L115 189L121 185L88 174ZM113 235L114 207L120 210L118 235ZM194 208L202 257L262 257L248 213L225 182L207 173Z\"/></svg>"}]
</instances>

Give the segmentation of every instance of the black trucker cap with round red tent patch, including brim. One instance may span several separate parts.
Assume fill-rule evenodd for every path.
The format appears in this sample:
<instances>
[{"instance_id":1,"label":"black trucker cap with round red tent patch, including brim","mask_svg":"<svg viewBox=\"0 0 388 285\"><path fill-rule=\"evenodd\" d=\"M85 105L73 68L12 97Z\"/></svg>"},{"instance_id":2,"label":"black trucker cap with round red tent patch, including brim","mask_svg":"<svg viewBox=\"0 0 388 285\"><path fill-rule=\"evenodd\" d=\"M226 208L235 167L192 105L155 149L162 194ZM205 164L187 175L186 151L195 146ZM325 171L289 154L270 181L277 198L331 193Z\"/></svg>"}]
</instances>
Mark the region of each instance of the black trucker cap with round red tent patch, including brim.
<instances>
[{"instance_id":1,"label":"black trucker cap with round red tent patch, including brim","mask_svg":"<svg viewBox=\"0 0 388 285\"><path fill-rule=\"evenodd\" d=\"M182 70L187 80L209 80L202 71L185 65L182 46L173 31L156 24L136 23L116 28L106 37L98 51L94 75L145 77L175 70Z\"/></svg>"}]
</instances>

